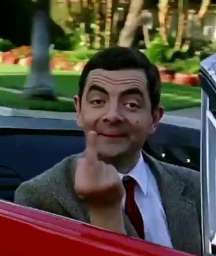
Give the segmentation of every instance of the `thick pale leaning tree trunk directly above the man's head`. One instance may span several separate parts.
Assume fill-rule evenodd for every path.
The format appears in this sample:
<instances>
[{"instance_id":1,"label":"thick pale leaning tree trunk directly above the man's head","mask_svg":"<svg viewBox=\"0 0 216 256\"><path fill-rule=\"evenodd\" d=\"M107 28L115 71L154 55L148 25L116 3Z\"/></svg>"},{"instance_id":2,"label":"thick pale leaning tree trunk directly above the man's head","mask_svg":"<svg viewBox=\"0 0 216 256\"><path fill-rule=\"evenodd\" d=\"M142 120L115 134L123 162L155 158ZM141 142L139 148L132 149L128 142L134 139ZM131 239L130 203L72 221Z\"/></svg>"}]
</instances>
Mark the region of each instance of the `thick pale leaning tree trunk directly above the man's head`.
<instances>
[{"instance_id":1,"label":"thick pale leaning tree trunk directly above the man's head","mask_svg":"<svg viewBox=\"0 0 216 256\"><path fill-rule=\"evenodd\" d=\"M143 5L144 0L131 0L124 28L119 36L119 46L130 47L132 45L137 28L142 25Z\"/></svg>"}]
</instances>

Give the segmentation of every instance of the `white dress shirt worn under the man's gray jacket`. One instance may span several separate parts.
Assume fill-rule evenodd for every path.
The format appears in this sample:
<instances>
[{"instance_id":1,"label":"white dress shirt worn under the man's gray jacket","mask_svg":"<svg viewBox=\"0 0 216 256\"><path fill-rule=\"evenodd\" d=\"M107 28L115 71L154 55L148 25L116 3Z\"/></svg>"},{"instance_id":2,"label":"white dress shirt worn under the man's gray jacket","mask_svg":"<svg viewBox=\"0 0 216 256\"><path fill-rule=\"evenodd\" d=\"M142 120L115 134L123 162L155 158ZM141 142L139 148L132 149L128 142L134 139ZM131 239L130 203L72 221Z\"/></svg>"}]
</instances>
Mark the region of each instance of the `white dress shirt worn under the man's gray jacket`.
<instances>
[{"instance_id":1,"label":"white dress shirt worn under the man's gray jacket","mask_svg":"<svg viewBox=\"0 0 216 256\"><path fill-rule=\"evenodd\" d=\"M120 174L121 179L125 176ZM136 166L127 174L136 180L135 201L144 223L145 241L172 248L166 215L154 175L142 154ZM125 208L123 198L123 207Z\"/></svg>"}]
</instances>

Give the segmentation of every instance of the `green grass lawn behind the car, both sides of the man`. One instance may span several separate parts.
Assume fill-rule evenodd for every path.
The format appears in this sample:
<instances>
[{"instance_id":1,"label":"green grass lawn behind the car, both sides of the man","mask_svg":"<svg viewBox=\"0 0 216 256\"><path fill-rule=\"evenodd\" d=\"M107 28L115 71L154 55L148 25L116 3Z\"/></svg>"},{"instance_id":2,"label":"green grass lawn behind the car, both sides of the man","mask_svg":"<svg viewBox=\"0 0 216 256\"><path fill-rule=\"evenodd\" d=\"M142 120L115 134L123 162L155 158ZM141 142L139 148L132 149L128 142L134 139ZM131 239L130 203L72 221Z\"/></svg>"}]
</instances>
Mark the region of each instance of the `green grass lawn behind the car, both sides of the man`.
<instances>
[{"instance_id":1,"label":"green grass lawn behind the car, both sides of the man","mask_svg":"<svg viewBox=\"0 0 216 256\"><path fill-rule=\"evenodd\" d=\"M6 66L8 67L8 65L0 64L0 86L22 90L26 80L27 69L15 65L10 65L7 69ZM72 99L73 95L78 92L79 73L54 71L53 75L57 95ZM201 89L199 87L164 83L162 86L161 103L165 107L166 111L200 106ZM1 90L0 105L53 111L72 110L70 102L27 101L22 98L22 95L3 92Z\"/></svg>"}]
</instances>

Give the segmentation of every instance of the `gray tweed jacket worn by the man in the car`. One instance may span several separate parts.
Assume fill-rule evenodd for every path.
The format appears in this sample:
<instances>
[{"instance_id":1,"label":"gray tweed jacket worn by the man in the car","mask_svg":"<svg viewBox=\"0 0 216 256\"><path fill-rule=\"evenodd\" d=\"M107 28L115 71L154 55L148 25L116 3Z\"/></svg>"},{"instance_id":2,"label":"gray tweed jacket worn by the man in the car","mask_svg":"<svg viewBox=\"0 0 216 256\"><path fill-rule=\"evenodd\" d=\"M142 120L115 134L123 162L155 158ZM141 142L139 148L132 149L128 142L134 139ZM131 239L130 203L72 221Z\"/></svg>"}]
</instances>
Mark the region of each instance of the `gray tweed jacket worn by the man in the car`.
<instances>
[{"instance_id":1,"label":"gray tweed jacket worn by the man in the car","mask_svg":"<svg viewBox=\"0 0 216 256\"><path fill-rule=\"evenodd\" d=\"M22 183L15 203L89 223L88 209L74 191L76 161L71 155L41 175ZM173 247L201 255L201 205L199 173L162 163L143 152L154 174L167 217ZM138 237L124 214L129 236Z\"/></svg>"}]
</instances>

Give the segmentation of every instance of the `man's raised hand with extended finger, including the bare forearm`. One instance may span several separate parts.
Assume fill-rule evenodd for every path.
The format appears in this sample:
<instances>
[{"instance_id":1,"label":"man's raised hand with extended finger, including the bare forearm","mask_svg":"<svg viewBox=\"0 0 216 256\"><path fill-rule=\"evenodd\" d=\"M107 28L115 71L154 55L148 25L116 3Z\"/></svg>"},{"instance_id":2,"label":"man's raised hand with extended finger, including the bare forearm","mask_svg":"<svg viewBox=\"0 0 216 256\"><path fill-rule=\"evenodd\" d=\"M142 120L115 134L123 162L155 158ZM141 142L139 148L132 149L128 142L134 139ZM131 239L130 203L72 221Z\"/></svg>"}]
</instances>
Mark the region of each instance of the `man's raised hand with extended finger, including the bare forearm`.
<instances>
[{"instance_id":1,"label":"man's raised hand with extended finger, including the bare forearm","mask_svg":"<svg viewBox=\"0 0 216 256\"><path fill-rule=\"evenodd\" d=\"M117 170L97 158L97 133L87 134L86 157L77 162L75 191L88 205L92 225L126 234L122 198L124 186Z\"/></svg>"}]
</instances>

